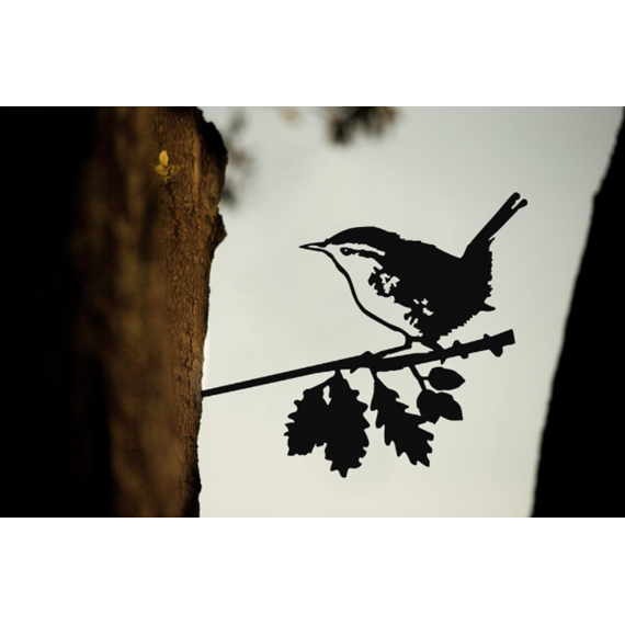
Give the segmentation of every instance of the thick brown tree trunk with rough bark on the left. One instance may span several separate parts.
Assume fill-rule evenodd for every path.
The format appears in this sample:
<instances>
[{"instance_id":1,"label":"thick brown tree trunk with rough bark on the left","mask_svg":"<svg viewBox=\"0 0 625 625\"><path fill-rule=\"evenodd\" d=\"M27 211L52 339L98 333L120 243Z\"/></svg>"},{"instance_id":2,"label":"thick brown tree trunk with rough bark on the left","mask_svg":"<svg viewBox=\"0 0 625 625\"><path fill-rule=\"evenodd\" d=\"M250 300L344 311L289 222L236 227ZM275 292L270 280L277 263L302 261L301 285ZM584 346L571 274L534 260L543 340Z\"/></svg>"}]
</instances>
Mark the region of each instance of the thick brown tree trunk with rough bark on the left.
<instances>
[{"instance_id":1,"label":"thick brown tree trunk with rough bark on the left","mask_svg":"<svg viewBox=\"0 0 625 625\"><path fill-rule=\"evenodd\" d=\"M3 118L12 387L29 398L21 507L197 516L221 139L195 106L14 106ZM169 181L154 169L162 150L181 167Z\"/></svg>"}]
</instances>

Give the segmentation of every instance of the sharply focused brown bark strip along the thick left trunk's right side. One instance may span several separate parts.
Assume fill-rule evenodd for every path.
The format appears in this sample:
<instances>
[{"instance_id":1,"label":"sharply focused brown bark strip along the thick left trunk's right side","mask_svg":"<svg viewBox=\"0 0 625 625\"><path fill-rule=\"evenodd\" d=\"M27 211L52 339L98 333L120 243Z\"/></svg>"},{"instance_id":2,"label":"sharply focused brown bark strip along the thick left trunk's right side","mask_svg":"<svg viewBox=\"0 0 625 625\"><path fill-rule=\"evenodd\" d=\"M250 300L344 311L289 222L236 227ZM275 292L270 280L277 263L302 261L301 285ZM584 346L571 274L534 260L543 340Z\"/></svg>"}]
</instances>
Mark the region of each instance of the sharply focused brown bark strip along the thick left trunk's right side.
<instances>
[{"instance_id":1,"label":"sharply focused brown bark strip along the thick left trunk's right side","mask_svg":"<svg viewBox=\"0 0 625 625\"><path fill-rule=\"evenodd\" d=\"M216 129L196 107L154 106L156 139L181 173L159 193L162 258L173 363L173 400L186 516L200 515L197 436L202 371L208 319L208 282L217 246L225 237L218 205L226 151ZM171 109L191 109L179 114Z\"/></svg>"}]
</instances>

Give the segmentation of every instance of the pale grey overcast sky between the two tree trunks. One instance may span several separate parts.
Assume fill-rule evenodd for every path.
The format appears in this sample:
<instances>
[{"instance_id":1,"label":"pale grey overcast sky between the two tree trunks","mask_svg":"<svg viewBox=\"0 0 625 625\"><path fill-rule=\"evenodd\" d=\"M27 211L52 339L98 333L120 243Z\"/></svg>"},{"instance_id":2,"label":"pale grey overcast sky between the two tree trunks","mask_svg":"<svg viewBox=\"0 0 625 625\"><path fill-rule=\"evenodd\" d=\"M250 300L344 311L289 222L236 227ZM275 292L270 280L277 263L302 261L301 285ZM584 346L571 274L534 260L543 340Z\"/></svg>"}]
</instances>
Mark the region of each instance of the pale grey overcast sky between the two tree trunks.
<instances>
[{"instance_id":1,"label":"pale grey overcast sky between the two tree trunks","mask_svg":"<svg viewBox=\"0 0 625 625\"><path fill-rule=\"evenodd\" d=\"M236 107L201 109L224 127ZM269 107L248 109L243 143L255 168L238 206L223 209L228 238L212 275L205 388L401 342L362 315L329 259L299 246L377 226L462 255L513 192L530 206L492 246L488 303L497 310L442 343L513 329L518 344L501 359L484 353L448 363L467 380L455 393L465 421L430 428L431 468L398 458L375 429L375 413L367 414L367 456L348 479L330 473L322 450L288 457L284 434L295 400L331 374L206 399L203 515L530 515L592 198L622 107L401 106L383 138L360 137L348 148L330 145L314 115L289 124ZM346 377L370 401L371 375ZM410 375L384 382L414 407L419 387Z\"/></svg>"}]
</instances>

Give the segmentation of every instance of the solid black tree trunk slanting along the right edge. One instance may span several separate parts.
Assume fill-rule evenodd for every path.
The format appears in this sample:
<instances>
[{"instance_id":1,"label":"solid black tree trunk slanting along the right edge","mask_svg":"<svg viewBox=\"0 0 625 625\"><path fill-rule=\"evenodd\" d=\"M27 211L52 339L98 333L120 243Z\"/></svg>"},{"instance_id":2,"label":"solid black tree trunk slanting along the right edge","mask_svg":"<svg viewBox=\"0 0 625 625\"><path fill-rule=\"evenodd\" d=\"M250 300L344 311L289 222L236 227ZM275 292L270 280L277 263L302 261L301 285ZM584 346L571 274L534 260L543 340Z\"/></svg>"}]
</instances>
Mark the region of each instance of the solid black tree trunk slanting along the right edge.
<instances>
[{"instance_id":1,"label":"solid black tree trunk slanting along the right edge","mask_svg":"<svg viewBox=\"0 0 625 625\"><path fill-rule=\"evenodd\" d=\"M623 414L617 345L622 329L625 126L594 215L554 385L536 492L535 518L601 516L622 491L615 423Z\"/></svg>"}]
</instances>

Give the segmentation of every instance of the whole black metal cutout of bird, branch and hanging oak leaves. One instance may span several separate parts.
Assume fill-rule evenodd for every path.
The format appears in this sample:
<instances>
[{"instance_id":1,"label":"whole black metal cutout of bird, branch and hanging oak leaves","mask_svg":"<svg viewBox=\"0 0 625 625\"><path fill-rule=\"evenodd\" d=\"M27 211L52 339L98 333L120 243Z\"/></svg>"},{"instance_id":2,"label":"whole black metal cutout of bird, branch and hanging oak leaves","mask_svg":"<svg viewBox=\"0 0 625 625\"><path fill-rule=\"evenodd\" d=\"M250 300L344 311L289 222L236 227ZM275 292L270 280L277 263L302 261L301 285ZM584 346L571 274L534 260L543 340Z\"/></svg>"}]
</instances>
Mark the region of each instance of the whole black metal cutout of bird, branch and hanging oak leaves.
<instances>
[{"instance_id":1,"label":"whole black metal cutout of bird, branch and hanging oak leaves","mask_svg":"<svg viewBox=\"0 0 625 625\"><path fill-rule=\"evenodd\" d=\"M490 351L503 355L503 348L515 343L513 331L467 344L455 342L443 349L442 337L450 334L482 311L495 310L487 304L492 293L492 252L495 236L527 201L515 193L467 246L462 257L448 254L435 246L409 241L379 228L353 228L321 243L303 246L306 250L328 255L346 277L359 308L378 323L400 332L405 345L361 356L264 376L203 391L203 397L235 393L266 384L326 372L334 375L306 390L286 425L288 455L307 456L317 447L326 447L326 458L332 470L342 477L362 466L370 445L365 418L367 405L359 400L360 393L351 388L343 371L368 368L374 378L371 410L377 412L376 427L384 430L388 446L397 455L406 455L413 465L430 466L432 434L424 425L435 425L441 419L462 421L461 405L450 395L465 384L455 371L436 366L428 376L417 366L450 359L467 359L470 354ZM419 342L432 351L388 359ZM379 374L408 368L420 386L416 407L418 412L400 401L399 395L387 387Z\"/></svg>"}]
</instances>

